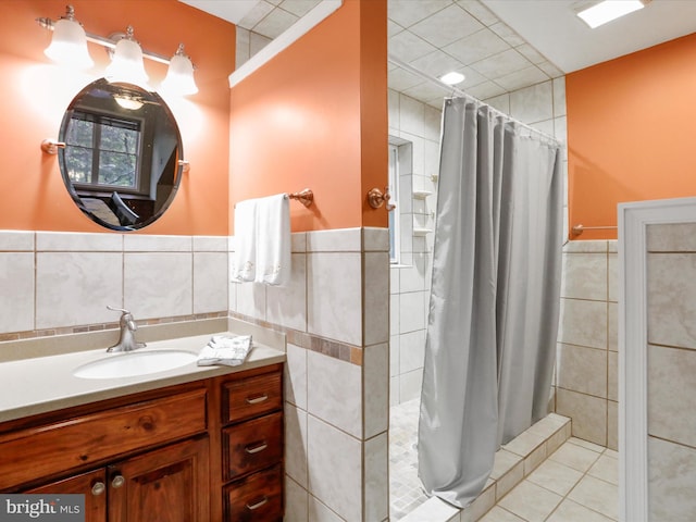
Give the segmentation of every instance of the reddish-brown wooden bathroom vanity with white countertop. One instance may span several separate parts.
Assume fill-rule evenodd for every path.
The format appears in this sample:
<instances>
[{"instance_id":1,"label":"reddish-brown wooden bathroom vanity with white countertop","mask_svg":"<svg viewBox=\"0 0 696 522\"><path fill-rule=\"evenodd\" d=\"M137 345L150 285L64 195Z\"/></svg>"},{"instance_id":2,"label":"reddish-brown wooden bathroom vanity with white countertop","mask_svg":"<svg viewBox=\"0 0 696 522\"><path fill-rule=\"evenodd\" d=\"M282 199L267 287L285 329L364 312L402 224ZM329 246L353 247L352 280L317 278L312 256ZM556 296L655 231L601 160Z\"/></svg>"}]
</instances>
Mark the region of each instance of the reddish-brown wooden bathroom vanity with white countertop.
<instances>
[{"instance_id":1,"label":"reddish-brown wooden bathroom vanity with white countertop","mask_svg":"<svg viewBox=\"0 0 696 522\"><path fill-rule=\"evenodd\" d=\"M195 348L206 338L190 337ZM77 357L0 363L0 377L21 363L60 373ZM88 522L281 521L284 359L254 347L240 366L194 362L141 377L65 376L57 402L73 406L29 399L26 411L44 411L17 409L0 423L0 492L84 494ZM89 386L107 398L90 400Z\"/></svg>"}]
</instances>

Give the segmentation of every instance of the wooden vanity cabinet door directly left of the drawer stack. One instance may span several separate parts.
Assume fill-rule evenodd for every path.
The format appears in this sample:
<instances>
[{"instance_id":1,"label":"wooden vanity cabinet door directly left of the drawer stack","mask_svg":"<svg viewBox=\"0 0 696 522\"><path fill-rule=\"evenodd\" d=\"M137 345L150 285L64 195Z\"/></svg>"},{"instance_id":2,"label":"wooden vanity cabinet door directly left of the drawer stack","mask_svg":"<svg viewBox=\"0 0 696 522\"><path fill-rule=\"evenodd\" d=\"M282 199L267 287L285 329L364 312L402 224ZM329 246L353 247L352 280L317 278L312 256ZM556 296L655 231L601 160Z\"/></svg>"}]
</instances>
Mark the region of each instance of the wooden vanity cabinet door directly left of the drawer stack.
<instances>
[{"instance_id":1,"label":"wooden vanity cabinet door directly left of the drawer stack","mask_svg":"<svg viewBox=\"0 0 696 522\"><path fill-rule=\"evenodd\" d=\"M109 467L109 522L210 520L208 438Z\"/></svg>"}]
</instances>

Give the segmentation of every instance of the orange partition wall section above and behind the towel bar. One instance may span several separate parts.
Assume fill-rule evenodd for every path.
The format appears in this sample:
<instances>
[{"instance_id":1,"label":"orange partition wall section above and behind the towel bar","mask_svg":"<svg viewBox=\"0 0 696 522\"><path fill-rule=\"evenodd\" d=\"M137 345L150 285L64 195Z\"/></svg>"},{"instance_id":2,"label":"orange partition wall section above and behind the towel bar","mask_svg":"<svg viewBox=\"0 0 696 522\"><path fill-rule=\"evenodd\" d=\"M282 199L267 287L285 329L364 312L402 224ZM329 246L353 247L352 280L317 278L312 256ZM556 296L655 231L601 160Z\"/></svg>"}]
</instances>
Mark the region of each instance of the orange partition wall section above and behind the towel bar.
<instances>
[{"instance_id":1,"label":"orange partition wall section above and behind the towel bar","mask_svg":"<svg viewBox=\"0 0 696 522\"><path fill-rule=\"evenodd\" d=\"M293 231L387 226L386 0L344 0L232 89L231 202L309 187ZM234 231L231 215L231 233Z\"/></svg>"}]
</instances>

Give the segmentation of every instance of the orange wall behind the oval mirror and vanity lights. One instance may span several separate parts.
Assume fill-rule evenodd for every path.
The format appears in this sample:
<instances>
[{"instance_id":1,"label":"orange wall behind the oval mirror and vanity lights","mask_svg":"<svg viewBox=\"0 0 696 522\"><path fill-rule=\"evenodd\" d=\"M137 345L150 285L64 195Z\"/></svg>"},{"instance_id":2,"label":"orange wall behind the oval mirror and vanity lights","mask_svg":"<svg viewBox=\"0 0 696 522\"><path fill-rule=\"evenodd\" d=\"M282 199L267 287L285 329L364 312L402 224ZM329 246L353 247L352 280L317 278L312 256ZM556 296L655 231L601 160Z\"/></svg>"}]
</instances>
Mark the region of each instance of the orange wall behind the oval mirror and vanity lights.
<instances>
[{"instance_id":1,"label":"orange wall behind the oval mirror and vanity lights","mask_svg":"<svg viewBox=\"0 0 696 522\"><path fill-rule=\"evenodd\" d=\"M171 55L179 41L198 67L199 92L167 100L177 119L185 159L191 163L169 211L144 234L226 235L228 224L229 86L234 70L235 27L175 0L72 0L86 30L108 36L130 24L136 39L152 52ZM86 84L103 74L108 57L89 44L96 65L87 73L53 65L44 49L51 33L36 17L57 20L64 0L0 2L0 99L3 147L0 159L0 229L107 232L77 210L63 185L58 158L39 149L58 138L63 112ZM158 85L166 66L145 61Z\"/></svg>"}]
</instances>

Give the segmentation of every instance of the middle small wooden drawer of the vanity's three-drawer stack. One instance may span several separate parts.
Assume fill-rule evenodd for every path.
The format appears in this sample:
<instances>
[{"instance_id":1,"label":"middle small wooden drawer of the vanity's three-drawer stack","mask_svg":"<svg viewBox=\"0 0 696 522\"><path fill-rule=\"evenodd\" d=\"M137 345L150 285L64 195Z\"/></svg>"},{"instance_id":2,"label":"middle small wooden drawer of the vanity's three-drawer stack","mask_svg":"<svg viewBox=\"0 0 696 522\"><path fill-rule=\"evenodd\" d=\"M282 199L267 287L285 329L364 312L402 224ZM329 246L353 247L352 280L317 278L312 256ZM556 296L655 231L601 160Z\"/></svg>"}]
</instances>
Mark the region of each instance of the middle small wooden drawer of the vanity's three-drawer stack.
<instances>
[{"instance_id":1,"label":"middle small wooden drawer of the vanity's three-drawer stack","mask_svg":"<svg viewBox=\"0 0 696 522\"><path fill-rule=\"evenodd\" d=\"M272 413L223 430L224 477L268 468L283 459L283 415Z\"/></svg>"}]
</instances>

